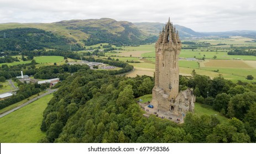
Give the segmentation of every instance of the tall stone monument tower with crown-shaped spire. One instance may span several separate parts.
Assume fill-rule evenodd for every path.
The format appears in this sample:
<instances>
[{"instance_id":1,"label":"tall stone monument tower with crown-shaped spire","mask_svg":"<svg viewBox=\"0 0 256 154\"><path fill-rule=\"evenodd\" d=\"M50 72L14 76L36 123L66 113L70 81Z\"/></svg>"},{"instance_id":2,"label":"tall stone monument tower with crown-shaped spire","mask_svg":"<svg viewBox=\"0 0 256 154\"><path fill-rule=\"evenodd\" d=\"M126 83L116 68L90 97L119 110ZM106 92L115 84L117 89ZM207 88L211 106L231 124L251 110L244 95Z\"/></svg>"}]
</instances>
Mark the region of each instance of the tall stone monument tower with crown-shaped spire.
<instances>
[{"instance_id":1,"label":"tall stone monument tower with crown-shaped spire","mask_svg":"<svg viewBox=\"0 0 256 154\"><path fill-rule=\"evenodd\" d=\"M174 114L194 112L195 103L192 90L179 92L180 50L179 33L169 18L155 43L155 86L152 90L152 103L157 108Z\"/></svg>"}]
</instances>

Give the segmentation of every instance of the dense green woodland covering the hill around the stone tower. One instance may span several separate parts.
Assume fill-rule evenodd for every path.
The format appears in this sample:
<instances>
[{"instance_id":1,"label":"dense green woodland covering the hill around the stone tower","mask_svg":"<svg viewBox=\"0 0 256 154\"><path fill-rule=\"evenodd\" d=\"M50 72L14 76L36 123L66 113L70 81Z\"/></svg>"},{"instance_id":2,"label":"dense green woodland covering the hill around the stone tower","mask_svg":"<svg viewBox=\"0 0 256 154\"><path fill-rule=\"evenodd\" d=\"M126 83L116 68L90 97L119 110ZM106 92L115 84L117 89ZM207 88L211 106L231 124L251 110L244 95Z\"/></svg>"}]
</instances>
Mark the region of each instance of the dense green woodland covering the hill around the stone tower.
<instances>
[{"instance_id":1,"label":"dense green woodland covering the hill around the stone tower","mask_svg":"<svg viewBox=\"0 0 256 154\"><path fill-rule=\"evenodd\" d=\"M68 76L44 111L40 142L255 142L256 85L180 76L180 90L194 88L197 102L212 105L230 118L187 113L184 124L143 117L136 103L151 94L154 79L126 78L94 70ZM207 93L208 91L208 97ZM246 97L245 97L246 96Z\"/></svg>"}]
</instances>

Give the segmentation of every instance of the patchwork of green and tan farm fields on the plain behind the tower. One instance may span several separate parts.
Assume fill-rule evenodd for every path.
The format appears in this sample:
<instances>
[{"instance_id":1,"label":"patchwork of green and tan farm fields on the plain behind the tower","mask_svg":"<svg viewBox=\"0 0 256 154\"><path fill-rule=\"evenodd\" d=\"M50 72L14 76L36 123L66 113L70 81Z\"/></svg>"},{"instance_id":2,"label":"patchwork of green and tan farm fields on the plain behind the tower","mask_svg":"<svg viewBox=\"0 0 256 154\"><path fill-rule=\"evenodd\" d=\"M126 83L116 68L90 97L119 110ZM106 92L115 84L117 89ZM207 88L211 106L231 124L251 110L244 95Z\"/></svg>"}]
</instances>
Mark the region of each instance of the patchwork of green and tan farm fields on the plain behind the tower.
<instances>
[{"instance_id":1,"label":"patchwork of green and tan farm fields on the plain behind the tower","mask_svg":"<svg viewBox=\"0 0 256 154\"><path fill-rule=\"evenodd\" d=\"M247 75L256 76L256 56L240 56L240 55L228 55L230 46L256 46L251 38L244 37L231 37L231 38L219 38L210 40L197 40L195 42L209 42L211 47L202 47L201 50L181 50L180 57L184 58L202 58L203 61L179 61L180 74L191 75L193 69L197 74L210 76L215 78L218 75L222 75L225 79L237 82L238 80L255 82L256 80L245 79ZM226 45L216 46L218 43L225 43ZM182 45L187 46L187 45ZM224 48L226 46L226 48ZM126 51L123 51L126 50ZM211 50L211 51L210 51ZM151 52L150 52L151 51ZM136 75L154 75L155 69L155 48L154 44L142 45L138 47L122 47L121 53L109 53L108 56L118 58L120 61L134 61L140 63L129 63L134 66L134 71L127 76L135 77ZM140 55L139 55L140 54ZM130 55L132 57L130 57ZM216 59L213 59L216 56ZM143 59L137 57L144 57Z\"/></svg>"}]
</instances>

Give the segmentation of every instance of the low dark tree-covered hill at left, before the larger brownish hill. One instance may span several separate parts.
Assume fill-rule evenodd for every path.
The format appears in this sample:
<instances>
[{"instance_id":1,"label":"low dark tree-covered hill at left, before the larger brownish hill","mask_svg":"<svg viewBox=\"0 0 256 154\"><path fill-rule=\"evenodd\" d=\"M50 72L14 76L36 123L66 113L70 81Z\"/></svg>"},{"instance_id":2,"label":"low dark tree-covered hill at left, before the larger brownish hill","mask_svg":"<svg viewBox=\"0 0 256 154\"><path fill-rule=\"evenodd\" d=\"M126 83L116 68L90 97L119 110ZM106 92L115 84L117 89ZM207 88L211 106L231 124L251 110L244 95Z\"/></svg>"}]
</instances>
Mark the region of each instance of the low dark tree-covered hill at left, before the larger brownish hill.
<instances>
[{"instance_id":1,"label":"low dark tree-covered hill at left, before the larger brownish hill","mask_svg":"<svg viewBox=\"0 0 256 154\"><path fill-rule=\"evenodd\" d=\"M17 28L0 31L0 52L33 51L44 48L70 50L70 43L65 37L34 28ZM72 50L81 50L79 45L72 45Z\"/></svg>"}]
</instances>

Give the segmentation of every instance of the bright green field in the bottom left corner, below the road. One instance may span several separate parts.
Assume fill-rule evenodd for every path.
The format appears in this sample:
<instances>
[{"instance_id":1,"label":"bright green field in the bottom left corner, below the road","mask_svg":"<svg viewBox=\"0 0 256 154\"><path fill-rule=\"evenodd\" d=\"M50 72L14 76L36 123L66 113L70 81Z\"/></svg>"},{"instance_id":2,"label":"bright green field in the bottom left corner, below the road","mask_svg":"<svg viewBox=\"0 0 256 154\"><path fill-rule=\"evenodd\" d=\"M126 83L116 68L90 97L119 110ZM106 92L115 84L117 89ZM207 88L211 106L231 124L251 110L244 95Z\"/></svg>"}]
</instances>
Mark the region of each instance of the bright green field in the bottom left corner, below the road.
<instances>
[{"instance_id":1,"label":"bright green field in the bottom left corner, below the road","mask_svg":"<svg viewBox=\"0 0 256 154\"><path fill-rule=\"evenodd\" d=\"M34 143L45 136L40 130L43 111L53 94L44 96L0 118L1 143Z\"/></svg>"}]
</instances>

